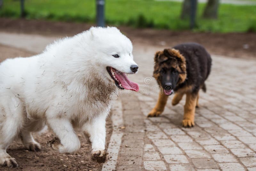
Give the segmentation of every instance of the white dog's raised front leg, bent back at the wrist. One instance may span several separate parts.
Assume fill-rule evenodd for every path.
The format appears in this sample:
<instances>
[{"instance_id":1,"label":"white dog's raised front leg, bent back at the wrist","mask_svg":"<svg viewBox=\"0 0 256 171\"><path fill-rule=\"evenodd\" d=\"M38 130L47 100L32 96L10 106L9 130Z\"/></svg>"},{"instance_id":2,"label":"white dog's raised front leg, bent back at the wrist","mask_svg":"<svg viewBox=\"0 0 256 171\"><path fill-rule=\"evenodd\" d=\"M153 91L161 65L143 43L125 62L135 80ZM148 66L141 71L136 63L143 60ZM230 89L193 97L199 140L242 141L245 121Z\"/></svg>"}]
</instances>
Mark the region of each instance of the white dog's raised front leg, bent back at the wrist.
<instances>
[{"instance_id":1,"label":"white dog's raised front leg, bent back at the wrist","mask_svg":"<svg viewBox=\"0 0 256 171\"><path fill-rule=\"evenodd\" d=\"M69 120L65 118L51 118L48 120L50 128L60 139L60 143L52 141L52 149L61 153L72 153L80 149L80 141Z\"/></svg>"}]
</instances>

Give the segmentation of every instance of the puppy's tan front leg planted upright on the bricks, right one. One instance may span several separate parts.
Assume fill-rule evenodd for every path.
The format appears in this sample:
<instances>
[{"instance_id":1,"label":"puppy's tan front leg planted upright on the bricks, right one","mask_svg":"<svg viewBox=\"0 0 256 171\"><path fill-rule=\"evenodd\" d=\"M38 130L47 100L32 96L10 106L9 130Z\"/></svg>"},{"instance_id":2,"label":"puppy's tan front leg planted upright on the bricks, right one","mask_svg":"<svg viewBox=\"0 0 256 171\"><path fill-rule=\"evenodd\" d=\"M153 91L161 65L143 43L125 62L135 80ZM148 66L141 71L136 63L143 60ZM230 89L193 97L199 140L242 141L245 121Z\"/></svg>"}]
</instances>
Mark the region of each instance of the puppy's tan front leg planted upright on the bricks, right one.
<instances>
[{"instance_id":1,"label":"puppy's tan front leg planted upright on the bricks, right one","mask_svg":"<svg viewBox=\"0 0 256 171\"><path fill-rule=\"evenodd\" d=\"M197 94L187 93L186 104L184 106L183 127L193 127L195 125L195 109Z\"/></svg>"}]
</instances>

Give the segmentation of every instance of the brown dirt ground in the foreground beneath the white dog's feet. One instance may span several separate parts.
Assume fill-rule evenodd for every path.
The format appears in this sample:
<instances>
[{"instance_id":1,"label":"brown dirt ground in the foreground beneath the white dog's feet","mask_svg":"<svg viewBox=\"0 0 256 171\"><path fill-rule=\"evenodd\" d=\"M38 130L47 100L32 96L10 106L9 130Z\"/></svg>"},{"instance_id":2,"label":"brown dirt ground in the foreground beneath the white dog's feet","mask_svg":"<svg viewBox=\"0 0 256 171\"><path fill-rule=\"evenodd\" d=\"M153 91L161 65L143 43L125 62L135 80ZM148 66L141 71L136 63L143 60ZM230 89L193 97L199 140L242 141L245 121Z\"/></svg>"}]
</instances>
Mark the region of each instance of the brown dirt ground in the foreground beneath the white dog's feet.
<instances>
[{"instance_id":1,"label":"brown dirt ground in the foreground beneath the white dog's feet","mask_svg":"<svg viewBox=\"0 0 256 171\"><path fill-rule=\"evenodd\" d=\"M112 133L111 119L107 120L107 140L109 142ZM46 142L52 140L55 135L51 131L45 131L40 134L35 134L34 138L41 144L40 152L30 152L24 148L20 141L12 143L7 149L7 152L16 159L19 167L5 168L0 167L0 170L101 170L102 164L93 162L90 159L90 145L82 132L78 132L78 137L81 142L81 148L76 153L61 154L52 150ZM108 143L107 143L108 146Z\"/></svg>"}]
</instances>

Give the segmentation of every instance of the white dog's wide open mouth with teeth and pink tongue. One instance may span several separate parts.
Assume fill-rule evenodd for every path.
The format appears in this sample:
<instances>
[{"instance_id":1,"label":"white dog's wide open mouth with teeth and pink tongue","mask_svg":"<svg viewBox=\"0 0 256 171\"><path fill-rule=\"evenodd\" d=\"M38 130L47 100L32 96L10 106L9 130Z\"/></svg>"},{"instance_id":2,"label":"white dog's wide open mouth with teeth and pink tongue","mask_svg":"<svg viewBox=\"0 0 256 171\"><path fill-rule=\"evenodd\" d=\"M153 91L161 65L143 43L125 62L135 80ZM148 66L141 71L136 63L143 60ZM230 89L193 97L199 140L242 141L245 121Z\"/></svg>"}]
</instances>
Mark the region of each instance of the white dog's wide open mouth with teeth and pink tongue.
<instances>
[{"instance_id":1,"label":"white dog's wide open mouth with teeth and pink tongue","mask_svg":"<svg viewBox=\"0 0 256 171\"><path fill-rule=\"evenodd\" d=\"M122 73L121 71L118 71L110 66L107 66L107 71L119 89L129 89L137 92L139 91L139 85L136 82L130 81L125 73Z\"/></svg>"}]
</instances>

